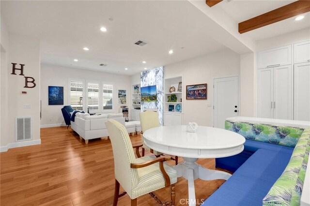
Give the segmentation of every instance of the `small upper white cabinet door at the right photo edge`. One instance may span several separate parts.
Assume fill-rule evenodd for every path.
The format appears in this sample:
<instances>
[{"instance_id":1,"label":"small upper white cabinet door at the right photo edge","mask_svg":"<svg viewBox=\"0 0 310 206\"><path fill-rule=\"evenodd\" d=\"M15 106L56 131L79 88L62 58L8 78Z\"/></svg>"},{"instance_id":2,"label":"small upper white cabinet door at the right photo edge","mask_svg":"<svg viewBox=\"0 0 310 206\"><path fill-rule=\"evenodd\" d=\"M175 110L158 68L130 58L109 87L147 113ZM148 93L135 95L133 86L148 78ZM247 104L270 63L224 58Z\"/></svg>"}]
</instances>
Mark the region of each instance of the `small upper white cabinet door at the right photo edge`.
<instances>
[{"instance_id":1,"label":"small upper white cabinet door at the right photo edge","mask_svg":"<svg viewBox=\"0 0 310 206\"><path fill-rule=\"evenodd\" d=\"M294 44L294 64L310 62L310 40Z\"/></svg>"}]
</instances>

